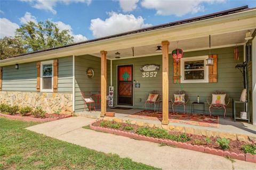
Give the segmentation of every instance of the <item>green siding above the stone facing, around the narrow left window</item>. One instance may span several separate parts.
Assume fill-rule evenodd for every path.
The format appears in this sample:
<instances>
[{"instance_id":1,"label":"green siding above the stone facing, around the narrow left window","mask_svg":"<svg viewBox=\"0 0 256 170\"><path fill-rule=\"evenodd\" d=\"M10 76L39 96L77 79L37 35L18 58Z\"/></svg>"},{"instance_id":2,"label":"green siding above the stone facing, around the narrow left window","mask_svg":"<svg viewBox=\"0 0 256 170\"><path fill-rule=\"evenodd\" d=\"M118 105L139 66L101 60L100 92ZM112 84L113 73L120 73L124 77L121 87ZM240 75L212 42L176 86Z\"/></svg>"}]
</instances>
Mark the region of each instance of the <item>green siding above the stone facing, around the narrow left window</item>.
<instances>
[{"instance_id":1,"label":"green siding above the stone facing, around the narrow left window","mask_svg":"<svg viewBox=\"0 0 256 170\"><path fill-rule=\"evenodd\" d=\"M58 92L72 93L72 56L59 58ZM36 91L36 62L3 67L3 91Z\"/></svg>"}]
</instances>

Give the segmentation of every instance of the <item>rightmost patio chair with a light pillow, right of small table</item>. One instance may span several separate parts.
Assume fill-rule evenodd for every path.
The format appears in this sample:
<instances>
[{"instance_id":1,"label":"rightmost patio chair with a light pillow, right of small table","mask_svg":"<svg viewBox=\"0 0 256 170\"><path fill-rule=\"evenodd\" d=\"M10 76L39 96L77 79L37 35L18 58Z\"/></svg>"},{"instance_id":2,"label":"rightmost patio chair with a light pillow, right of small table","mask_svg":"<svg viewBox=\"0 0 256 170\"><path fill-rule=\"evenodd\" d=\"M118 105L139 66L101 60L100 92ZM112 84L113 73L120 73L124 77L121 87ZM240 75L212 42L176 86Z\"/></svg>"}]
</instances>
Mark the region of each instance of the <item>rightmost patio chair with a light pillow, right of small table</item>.
<instances>
[{"instance_id":1,"label":"rightmost patio chair with a light pillow, right of small table","mask_svg":"<svg viewBox=\"0 0 256 170\"><path fill-rule=\"evenodd\" d=\"M214 109L223 108L224 109L224 118L225 118L227 106L230 102L230 98L229 98L228 94L226 94L225 92L216 91L214 94L212 94L211 102L209 102L209 98L207 98L207 103L209 104L210 116L212 116L211 108L214 108Z\"/></svg>"}]
</instances>

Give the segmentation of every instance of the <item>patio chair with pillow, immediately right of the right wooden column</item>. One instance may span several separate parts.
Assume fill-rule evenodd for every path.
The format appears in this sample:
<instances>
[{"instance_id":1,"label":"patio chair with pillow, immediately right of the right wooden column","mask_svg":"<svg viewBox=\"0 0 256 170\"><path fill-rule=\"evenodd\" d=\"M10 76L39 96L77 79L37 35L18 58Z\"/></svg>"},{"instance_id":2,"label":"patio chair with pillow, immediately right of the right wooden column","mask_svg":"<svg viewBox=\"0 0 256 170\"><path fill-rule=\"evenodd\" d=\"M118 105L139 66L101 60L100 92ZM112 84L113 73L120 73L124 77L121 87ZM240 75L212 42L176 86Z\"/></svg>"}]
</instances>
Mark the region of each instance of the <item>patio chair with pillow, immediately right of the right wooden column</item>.
<instances>
[{"instance_id":1,"label":"patio chair with pillow, immediately right of the right wooden column","mask_svg":"<svg viewBox=\"0 0 256 170\"><path fill-rule=\"evenodd\" d=\"M174 112L174 106L183 106L184 107L184 113L187 112L187 103L188 103L188 95L185 93L185 91L178 91L177 93L174 93L173 98L171 98L172 103L172 111Z\"/></svg>"}]
</instances>

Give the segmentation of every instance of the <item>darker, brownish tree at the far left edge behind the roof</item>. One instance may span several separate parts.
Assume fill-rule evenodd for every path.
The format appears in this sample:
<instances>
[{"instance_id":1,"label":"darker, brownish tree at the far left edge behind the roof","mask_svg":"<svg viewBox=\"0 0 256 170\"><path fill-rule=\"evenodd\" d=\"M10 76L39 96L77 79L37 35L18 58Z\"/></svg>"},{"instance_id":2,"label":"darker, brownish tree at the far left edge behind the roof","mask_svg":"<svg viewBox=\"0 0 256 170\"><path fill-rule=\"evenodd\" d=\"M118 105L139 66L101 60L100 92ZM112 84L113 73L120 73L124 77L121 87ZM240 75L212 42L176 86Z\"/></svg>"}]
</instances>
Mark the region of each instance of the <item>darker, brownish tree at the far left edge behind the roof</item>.
<instances>
[{"instance_id":1,"label":"darker, brownish tree at the far left edge behind the roof","mask_svg":"<svg viewBox=\"0 0 256 170\"><path fill-rule=\"evenodd\" d=\"M10 58L11 56L25 53L26 50L18 39L4 37L0 39L0 60Z\"/></svg>"}]
</instances>

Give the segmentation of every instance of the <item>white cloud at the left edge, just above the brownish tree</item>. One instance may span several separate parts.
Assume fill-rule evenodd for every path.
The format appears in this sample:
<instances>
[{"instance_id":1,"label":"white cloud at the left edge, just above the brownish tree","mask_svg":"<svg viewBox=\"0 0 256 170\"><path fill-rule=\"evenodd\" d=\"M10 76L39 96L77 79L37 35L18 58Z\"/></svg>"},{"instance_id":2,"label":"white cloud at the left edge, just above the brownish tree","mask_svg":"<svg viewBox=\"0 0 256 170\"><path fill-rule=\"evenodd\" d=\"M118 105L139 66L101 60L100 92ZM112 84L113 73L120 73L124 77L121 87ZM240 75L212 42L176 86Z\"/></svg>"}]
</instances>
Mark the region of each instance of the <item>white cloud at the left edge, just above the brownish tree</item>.
<instances>
[{"instance_id":1,"label":"white cloud at the left edge, just above the brownish tree","mask_svg":"<svg viewBox=\"0 0 256 170\"><path fill-rule=\"evenodd\" d=\"M11 22L6 18L0 18L0 38L5 36L13 37L17 28L19 28L17 23Z\"/></svg>"}]
</instances>

